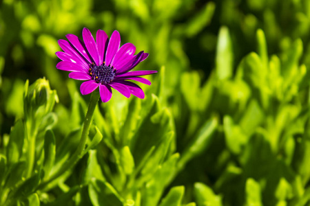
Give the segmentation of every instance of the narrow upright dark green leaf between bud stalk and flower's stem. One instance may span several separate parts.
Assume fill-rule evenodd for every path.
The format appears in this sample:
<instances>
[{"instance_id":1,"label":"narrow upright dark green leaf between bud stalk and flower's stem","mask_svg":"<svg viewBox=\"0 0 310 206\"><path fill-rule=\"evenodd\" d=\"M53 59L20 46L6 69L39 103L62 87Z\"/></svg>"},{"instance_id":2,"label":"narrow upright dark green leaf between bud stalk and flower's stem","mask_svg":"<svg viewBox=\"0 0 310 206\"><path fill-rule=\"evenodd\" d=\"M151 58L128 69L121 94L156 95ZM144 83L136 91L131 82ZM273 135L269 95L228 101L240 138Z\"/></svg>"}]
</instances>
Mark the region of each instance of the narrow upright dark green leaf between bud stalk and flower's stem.
<instances>
[{"instance_id":1,"label":"narrow upright dark green leaf between bud stalk and flower's stem","mask_svg":"<svg viewBox=\"0 0 310 206\"><path fill-rule=\"evenodd\" d=\"M44 137L44 179L48 179L50 176L50 171L55 161L55 154L55 136L52 130L47 130Z\"/></svg>"}]
</instances>

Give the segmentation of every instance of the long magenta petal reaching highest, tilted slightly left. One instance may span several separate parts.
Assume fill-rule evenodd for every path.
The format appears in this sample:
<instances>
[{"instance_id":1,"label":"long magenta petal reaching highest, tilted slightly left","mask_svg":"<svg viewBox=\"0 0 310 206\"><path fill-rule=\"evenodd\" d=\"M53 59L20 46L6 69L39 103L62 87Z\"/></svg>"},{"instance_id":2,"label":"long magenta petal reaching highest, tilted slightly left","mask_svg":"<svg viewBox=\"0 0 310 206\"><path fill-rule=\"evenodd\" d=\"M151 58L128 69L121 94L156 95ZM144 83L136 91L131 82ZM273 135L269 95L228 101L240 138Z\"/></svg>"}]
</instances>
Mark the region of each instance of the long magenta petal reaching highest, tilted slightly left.
<instances>
[{"instance_id":1,"label":"long magenta petal reaching highest, tilted slightly left","mask_svg":"<svg viewBox=\"0 0 310 206\"><path fill-rule=\"evenodd\" d=\"M90 32L90 30L85 27L83 28L83 40L88 53L90 53L90 56L92 56L92 59L94 60L96 65L99 66L100 60L96 42L94 41L94 37L92 37L92 33Z\"/></svg>"}]
</instances>

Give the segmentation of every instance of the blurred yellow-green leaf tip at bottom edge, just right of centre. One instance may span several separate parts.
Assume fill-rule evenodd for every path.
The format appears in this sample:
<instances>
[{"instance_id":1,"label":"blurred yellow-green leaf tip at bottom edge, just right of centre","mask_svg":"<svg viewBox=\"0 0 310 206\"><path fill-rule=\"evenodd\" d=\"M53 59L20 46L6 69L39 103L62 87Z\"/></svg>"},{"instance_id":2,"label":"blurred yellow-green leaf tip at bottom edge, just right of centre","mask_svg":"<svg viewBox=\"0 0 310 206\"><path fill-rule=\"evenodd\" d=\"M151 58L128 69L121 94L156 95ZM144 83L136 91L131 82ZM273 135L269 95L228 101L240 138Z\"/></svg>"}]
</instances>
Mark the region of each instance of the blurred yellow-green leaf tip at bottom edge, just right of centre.
<instances>
[{"instance_id":1,"label":"blurred yellow-green leaf tip at bottom edge, just right of centre","mask_svg":"<svg viewBox=\"0 0 310 206\"><path fill-rule=\"evenodd\" d=\"M198 205L222 206L221 196L214 194L211 188L203 183L195 183L194 195Z\"/></svg>"}]
</instances>

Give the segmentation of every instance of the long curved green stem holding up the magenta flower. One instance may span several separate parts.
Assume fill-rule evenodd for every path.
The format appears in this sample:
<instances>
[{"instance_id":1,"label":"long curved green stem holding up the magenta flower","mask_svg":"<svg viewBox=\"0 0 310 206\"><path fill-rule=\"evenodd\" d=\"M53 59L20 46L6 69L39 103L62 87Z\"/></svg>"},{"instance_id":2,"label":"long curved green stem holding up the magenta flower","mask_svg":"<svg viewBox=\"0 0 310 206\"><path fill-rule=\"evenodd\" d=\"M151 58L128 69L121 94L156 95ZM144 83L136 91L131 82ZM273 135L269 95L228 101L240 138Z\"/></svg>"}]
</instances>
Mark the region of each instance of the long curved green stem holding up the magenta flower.
<instances>
[{"instance_id":1,"label":"long curved green stem holding up the magenta flower","mask_svg":"<svg viewBox=\"0 0 310 206\"><path fill-rule=\"evenodd\" d=\"M92 95L90 96L90 104L88 105L87 113L86 113L86 116L84 119L81 139L79 142L79 146L76 148L76 151L74 152L72 157L68 161L66 161L63 168L58 170L56 173L52 174L52 176L50 176L50 179L41 183L41 185L39 186L40 189L44 188L46 185L48 185L48 183L50 183L54 179L61 176L61 174L68 171L70 168L72 168L79 161L79 159L81 159L83 157L83 150L85 149L85 144L87 141L87 135L88 135L88 132L90 130L90 123L92 122L92 116L94 115L94 109L96 108L99 97L100 97L99 91L92 92Z\"/></svg>"}]
</instances>

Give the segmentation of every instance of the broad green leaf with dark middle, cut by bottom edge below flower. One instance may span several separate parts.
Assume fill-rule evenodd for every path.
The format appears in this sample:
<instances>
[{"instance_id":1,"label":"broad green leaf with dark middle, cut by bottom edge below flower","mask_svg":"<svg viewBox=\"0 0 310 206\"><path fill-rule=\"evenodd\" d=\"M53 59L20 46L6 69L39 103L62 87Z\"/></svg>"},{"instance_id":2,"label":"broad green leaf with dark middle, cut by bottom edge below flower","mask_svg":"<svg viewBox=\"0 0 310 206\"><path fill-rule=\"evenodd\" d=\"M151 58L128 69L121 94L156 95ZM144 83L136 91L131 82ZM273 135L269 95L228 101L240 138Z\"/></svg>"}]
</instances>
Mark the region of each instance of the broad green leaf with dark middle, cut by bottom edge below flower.
<instances>
[{"instance_id":1,"label":"broad green leaf with dark middle, cut by bottom edge below flower","mask_svg":"<svg viewBox=\"0 0 310 206\"><path fill-rule=\"evenodd\" d=\"M121 198L112 185L100 180L94 180L88 186L90 200L94 206L123 206Z\"/></svg>"}]
</instances>

